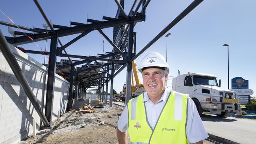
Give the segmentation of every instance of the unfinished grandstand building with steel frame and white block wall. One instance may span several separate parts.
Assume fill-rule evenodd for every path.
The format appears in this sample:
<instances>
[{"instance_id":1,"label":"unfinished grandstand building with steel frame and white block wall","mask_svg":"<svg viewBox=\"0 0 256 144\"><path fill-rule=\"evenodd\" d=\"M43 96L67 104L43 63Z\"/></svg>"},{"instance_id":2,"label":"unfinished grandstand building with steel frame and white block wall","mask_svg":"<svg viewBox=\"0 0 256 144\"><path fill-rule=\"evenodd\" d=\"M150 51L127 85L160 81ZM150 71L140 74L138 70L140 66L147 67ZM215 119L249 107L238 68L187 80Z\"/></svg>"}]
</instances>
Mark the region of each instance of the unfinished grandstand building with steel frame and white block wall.
<instances>
[{"instance_id":1,"label":"unfinished grandstand building with steel frame and white block wall","mask_svg":"<svg viewBox=\"0 0 256 144\"><path fill-rule=\"evenodd\" d=\"M87 24L70 21L70 26L52 24L39 2L33 1L49 29L28 28L0 21L6 28L19 30L12 31L13 37L4 36L0 31L0 143L14 143L31 135L33 120L36 129L51 127L53 120L72 109L74 100L85 99L89 90L98 91L98 99L106 104L109 99L109 106L112 107L113 78L127 68L126 85L131 85L132 61L202 2L192 2L137 52L134 26L146 20L150 0L134 0L128 12L124 11L124 0L115 0L118 9L113 17L103 16L102 20L87 18ZM102 31L106 28L113 28L113 39ZM67 53L66 48L91 31L98 31L113 46L112 51L93 56ZM74 34L79 35L65 44L59 39ZM50 40L49 52L26 50L26 47L19 46L47 39ZM48 55L49 62L41 64L28 53ZM56 57L62 57L61 61L56 61ZM126 102L130 100L130 91L130 87L126 87Z\"/></svg>"}]
</instances>

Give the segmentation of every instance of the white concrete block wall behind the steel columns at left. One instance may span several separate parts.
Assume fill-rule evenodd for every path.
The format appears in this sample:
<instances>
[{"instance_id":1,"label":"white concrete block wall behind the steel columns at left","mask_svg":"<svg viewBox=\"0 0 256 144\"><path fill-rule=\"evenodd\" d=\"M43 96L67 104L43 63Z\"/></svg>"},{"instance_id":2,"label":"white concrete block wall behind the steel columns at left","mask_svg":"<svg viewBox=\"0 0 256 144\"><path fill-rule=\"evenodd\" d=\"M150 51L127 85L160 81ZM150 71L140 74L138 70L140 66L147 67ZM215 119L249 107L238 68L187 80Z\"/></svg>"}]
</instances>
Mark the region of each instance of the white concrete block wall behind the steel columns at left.
<instances>
[{"instance_id":1,"label":"white concrete block wall behind the steel columns at left","mask_svg":"<svg viewBox=\"0 0 256 144\"><path fill-rule=\"evenodd\" d=\"M32 57L11 47L22 72L41 107L46 101L47 68ZM66 112L69 82L56 74L52 120ZM32 119L37 129L41 120L9 64L0 52L0 144L15 144L32 135Z\"/></svg>"}]
</instances>

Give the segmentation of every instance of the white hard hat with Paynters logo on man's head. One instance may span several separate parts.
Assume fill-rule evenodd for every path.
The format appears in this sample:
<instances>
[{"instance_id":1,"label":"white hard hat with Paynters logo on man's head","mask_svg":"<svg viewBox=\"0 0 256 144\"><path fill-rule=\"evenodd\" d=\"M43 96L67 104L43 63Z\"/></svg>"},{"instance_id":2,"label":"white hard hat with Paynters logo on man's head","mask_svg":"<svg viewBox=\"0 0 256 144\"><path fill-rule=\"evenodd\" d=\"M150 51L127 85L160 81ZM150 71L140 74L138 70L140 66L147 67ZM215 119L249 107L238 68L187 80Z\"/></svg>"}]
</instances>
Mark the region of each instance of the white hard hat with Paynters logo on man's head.
<instances>
[{"instance_id":1,"label":"white hard hat with Paynters logo on man's head","mask_svg":"<svg viewBox=\"0 0 256 144\"><path fill-rule=\"evenodd\" d=\"M169 73L169 65L165 61L165 57L158 52L148 53L141 60L138 70L142 73L142 69L146 67L161 67L165 68L167 73Z\"/></svg>"}]
</instances>

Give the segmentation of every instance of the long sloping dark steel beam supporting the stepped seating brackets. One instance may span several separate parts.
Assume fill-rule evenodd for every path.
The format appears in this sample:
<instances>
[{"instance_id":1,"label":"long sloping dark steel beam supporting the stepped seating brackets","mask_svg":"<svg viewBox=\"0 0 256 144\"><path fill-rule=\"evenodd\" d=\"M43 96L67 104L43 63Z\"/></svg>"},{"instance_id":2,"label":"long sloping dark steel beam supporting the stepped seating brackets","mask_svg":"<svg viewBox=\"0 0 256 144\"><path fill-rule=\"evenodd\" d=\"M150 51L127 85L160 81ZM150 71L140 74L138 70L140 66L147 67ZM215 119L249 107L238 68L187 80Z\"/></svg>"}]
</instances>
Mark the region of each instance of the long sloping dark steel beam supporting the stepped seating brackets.
<instances>
[{"instance_id":1,"label":"long sloping dark steel beam supporting the stepped seating brackets","mask_svg":"<svg viewBox=\"0 0 256 144\"><path fill-rule=\"evenodd\" d=\"M134 17L134 22L140 22L142 21L143 16L139 15L139 16L135 16ZM77 33L82 33L84 31L92 31L92 30L97 30L97 29L104 29L104 28L110 28L113 26L121 26L123 24L127 24L129 23L131 20L127 20L126 18L119 18L116 20L107 20L104 22L96 22L93 24L86 24L86 25L82 25L82 26L74 26L71 28L63 28L63 29L59 29L59 30L55 30L56 35L58 35L58 37L64 37L67 35L74 35ZM50 39L52 37L52 32L49 32L48 34L41 34L41 33L37 33L34 35L30 35L30 37L33 39L34 42L37 41L43 41L46 39ZM22 37L15 37L12 39L8 39L7 42L9 42L10 44L13 45L20 45L20 44L28 44L33 42L31 41L31 39L29 39L27 36L22 36Z\"/></svg>"}]
</instances>

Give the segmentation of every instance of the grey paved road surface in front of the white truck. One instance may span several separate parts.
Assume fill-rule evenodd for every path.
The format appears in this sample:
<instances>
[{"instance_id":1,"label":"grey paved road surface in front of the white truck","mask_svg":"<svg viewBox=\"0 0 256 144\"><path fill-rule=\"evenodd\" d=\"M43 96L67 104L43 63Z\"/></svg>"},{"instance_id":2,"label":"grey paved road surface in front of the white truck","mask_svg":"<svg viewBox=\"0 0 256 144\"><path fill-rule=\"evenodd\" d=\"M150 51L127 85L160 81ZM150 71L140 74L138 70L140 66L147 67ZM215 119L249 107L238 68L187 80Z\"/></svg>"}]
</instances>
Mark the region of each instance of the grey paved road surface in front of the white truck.
<instances>
[{"instance_id":1,"label":"grey paved road surface in front of the white truck","mask_svg":"<svg viewBox=\"0 0 256 144\"><path fill-rule=\"evenodd\" d=\"M207 133L240 144L256 144L256 120L254 119L221 118L213 114L203 114L201 119Z\"/></svg>"}]
</instances>

